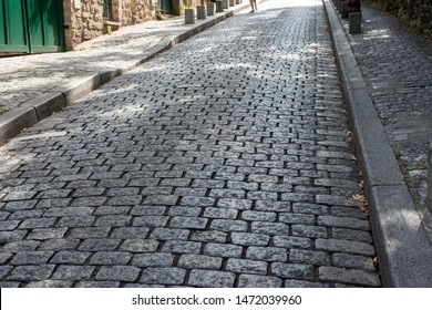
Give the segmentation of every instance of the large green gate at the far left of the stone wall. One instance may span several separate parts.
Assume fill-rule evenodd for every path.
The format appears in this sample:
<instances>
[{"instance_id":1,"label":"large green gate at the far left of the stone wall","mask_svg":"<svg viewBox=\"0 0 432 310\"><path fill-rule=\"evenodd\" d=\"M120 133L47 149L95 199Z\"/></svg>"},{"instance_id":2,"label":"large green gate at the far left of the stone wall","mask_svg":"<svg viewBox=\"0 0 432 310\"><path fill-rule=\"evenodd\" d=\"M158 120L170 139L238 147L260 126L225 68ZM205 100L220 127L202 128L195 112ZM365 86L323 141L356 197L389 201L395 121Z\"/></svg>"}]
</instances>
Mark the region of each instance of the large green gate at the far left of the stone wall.
<instances>
[{"instance_id":1,"label":"large green gate at the far left of the stone wall","mask_svg":"<svg viewBox=\"0 0 432 310\"><path fill-rule=\"evenodd\" d=\"M0 52L63 50L61 0L0 0Z\"/></svg>"}]
</instances>

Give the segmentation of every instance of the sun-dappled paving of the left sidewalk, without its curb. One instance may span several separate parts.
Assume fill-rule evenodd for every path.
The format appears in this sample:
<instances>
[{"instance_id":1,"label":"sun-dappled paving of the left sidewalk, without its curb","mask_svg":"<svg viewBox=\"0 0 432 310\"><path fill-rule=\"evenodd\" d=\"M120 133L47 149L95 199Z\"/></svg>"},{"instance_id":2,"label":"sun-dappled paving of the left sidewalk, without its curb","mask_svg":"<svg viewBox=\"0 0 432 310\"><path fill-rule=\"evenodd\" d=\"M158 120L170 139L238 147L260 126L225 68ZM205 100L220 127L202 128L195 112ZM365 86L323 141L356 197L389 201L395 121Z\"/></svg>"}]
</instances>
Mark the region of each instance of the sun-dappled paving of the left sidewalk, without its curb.
<instances>
[{"instance_id":1,"label":"sun-dappled paving of the left sidewalk, without its curb","mask_svg":"<svg viewBox=\"0 0 432 310\"><path fill-rule=\"evenodd\" d=\"M112 34L86 41L66 53L0 58L0 114L55 90L73 78L127 69L161 43L166 45L172 40L178 43L188 37L184 35L188 30L208 27L206 23L210 20L216 22L247 8L245 3L206 20L197 20L194 25L185 24L184 17L171 17L164 21L121 28Z\"/></svg>"}]
</instances>

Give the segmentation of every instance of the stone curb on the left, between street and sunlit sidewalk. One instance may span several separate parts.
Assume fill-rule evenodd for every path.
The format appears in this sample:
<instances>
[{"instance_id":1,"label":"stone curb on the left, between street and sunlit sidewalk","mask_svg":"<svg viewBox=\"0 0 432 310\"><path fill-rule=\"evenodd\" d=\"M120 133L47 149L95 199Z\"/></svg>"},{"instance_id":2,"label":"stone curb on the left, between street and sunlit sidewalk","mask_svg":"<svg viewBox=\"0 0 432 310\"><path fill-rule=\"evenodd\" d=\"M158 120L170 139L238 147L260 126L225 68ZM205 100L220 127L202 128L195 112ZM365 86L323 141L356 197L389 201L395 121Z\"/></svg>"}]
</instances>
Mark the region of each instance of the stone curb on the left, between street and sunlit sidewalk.
<instances>
[{"instance_id":1,"label":"stone curb on the left, between street and sunlit sidewalk","mask_svg":"<svg viewBox=\"0 0 432 310\"><path fill-rule=\"evenodd\" d=\"M116 76L125 74L126 72L156 56L158 53L175 46L194 34L245 10L247 7L249 7L248 3L238 8L233 8L224 13L207 17L206 20L199 21L192 29L181 34L163 38L161 42L145 51L143 54L126 60L122 68L113 68L94 74L76 76L53 91L0 115L0 146L7 144L23 130L33 126L41 120L62 110L71 102L91 93Z\"/></svg>"}]
</instances>

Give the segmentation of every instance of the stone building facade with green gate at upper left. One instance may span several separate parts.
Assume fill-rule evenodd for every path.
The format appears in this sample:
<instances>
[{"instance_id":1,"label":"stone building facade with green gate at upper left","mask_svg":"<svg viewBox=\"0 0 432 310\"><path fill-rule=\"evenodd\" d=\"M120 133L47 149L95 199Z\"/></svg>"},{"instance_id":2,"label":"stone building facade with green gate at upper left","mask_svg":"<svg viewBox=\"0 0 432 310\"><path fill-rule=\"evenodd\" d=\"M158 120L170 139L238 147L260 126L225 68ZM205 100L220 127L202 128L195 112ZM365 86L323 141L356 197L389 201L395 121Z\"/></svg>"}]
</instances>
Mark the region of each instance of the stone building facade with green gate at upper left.
<instances>
[{"instance_id":1,"label":"stone building facade with green gate at upper left","mask_svg":"<svg viewBox=\"0 0 432 310\"><path fill-rule=\"evenodd\" d=\"M0 0L0 53L72 50L156 18L157 0Z\"/></svg>"}]
</instances>

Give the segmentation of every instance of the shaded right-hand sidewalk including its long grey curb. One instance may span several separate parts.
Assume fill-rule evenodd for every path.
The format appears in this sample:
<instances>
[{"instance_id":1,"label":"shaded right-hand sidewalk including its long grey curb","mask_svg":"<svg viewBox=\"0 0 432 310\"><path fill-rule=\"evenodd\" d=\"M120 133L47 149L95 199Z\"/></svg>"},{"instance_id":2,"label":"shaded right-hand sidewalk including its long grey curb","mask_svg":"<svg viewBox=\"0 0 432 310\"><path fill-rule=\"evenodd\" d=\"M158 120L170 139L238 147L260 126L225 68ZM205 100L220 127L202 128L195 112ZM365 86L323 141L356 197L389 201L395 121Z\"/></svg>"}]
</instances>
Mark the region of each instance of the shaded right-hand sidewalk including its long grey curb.
<instances>
[{"instance_id":1,"label":"shaded right-hand sidewalk including its long grey curb","mask_svg":"<svg viewBox=\"0 0 432 310\"><path fill-rule=\"evenodd\" d=\"M383 285L430 287L432 221L425 197L422 205L413 195L412 176L420 176L425 186L431 49L367 6L362 33L348 34L347 21L331 0L323 2L366 178ZM411 172L410 164L415 166Z\"/></svg>"}]
</instances>

